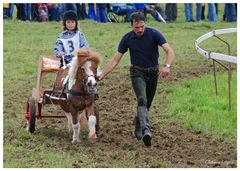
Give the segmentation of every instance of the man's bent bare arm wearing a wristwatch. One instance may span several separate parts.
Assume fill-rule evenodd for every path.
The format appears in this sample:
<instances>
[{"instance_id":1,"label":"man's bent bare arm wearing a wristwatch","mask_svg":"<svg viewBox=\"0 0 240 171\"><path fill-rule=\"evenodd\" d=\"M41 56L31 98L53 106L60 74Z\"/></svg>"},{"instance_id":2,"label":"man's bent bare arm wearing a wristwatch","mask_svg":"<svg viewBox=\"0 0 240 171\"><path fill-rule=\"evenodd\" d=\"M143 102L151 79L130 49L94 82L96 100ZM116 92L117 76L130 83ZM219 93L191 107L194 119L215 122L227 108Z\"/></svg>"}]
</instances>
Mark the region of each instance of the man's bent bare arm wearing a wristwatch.
<instances>
[{"instance_id":1,"label":"man's bent bare arm wearing a wristwatch","mask_svg":"<svg viewBox=\"0 0 240 171\"><path fill-rule=\"evenodd\" d=\"M166 60L165 60L165 66L161 69L160 72L160 76L162 78L165 78L168 76L169 72L170 72L170 67L167 67L168 65L170 66L175 58L174 52L172 50L172 48L170 47L170 45L168 43L164 43L162 46L163 50L166 53Z\"/></svg>"}]
</instances>

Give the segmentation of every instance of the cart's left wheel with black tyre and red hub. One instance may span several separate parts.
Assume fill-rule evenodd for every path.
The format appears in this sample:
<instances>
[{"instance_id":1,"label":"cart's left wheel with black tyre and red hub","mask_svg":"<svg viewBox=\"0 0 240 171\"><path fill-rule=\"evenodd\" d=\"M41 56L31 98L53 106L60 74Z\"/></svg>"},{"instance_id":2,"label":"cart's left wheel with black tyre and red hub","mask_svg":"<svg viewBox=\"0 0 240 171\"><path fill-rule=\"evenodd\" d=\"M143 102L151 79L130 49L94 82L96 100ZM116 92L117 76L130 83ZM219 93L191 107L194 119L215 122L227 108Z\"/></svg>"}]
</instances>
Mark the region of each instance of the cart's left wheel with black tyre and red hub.
<instances>
[{"instance_id":1,"label":"cart's left wheel with black tyre and red hub","mask_svg":"<svg viewBox=\"0 0 240 171\"><path fill-rule=\"evenodd\" d=\"M33 133L35 131L35 122L36 122L36 105L33 97L30 97L28 99L26 119L27 119L27 130Z\"/></svg>"}]
</instances>

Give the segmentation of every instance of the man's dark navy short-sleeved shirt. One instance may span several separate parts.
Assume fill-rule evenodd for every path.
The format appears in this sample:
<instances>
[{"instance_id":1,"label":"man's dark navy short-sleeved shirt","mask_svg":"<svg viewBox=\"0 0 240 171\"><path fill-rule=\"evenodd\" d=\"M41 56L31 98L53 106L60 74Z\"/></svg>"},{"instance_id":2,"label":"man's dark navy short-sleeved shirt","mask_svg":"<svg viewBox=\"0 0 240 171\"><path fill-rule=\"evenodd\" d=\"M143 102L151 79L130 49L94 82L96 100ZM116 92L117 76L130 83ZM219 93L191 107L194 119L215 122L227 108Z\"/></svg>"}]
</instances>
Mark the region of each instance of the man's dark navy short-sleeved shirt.
<instances>
[{"instance_id":1,"label":"man's dark navy short-sleeved shirt","mask_svg":"<svg viewBox=\"0 0 240 171\"><path fill-rule=\"evenodd\" d=\"M166 43L164 36L153 28L145 28L144 34L137 37L133 31L126 33L118 46L118 52L130 51L131 64L140 67L156 67L158 65L158 46Z\"/></svg>"}]
</instances>

